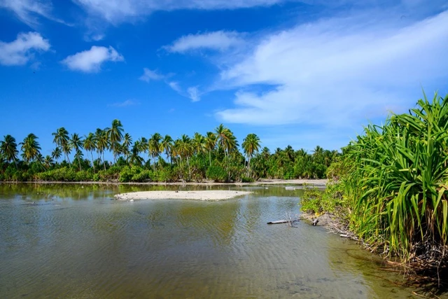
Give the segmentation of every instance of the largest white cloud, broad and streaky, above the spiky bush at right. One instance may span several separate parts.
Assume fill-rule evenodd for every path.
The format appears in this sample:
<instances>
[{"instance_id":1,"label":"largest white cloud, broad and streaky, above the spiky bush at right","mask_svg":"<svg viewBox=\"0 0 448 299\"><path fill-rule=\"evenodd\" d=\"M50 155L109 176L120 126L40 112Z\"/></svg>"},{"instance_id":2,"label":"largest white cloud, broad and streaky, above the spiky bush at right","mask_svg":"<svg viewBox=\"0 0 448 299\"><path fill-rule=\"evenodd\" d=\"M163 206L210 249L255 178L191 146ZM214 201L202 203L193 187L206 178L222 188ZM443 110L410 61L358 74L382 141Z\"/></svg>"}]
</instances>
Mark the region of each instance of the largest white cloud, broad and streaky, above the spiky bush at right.
<instances>
[{"instance_id":1,"label":"largest white cloud, broad and streaky, above the spiky bush at right","mask_svg":"<svg viewBox=\"0 0 448 299\"><path fill-rule=\"evenodd\" d=\"M216 116L228 123L350 127L388 109L402 112L421 86L446 83L448 12L405 24L376 17L320 20L265 36L222 71L218 85L241 90L235 106ZM247 91L255 84L272 88Z\"/></svg>"}]
</instances>

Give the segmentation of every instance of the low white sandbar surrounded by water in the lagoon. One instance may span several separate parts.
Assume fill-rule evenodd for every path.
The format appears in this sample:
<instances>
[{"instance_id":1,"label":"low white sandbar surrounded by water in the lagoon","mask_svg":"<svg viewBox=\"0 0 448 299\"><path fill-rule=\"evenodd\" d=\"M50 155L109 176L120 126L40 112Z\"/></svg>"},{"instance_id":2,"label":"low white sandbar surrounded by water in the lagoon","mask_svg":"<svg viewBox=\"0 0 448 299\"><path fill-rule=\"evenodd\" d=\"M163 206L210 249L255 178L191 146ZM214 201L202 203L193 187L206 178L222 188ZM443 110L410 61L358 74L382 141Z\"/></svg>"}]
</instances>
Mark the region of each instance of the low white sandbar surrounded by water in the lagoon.
<instances>
[{"instance_id":1,"label":"low white sandbar surrounded by water in the lagoon","mask_svg":"<svg viewBox=\"0 0 448 299\"><path fill-rule=\"evenodd\" d=\"M204 190L204 191L142 191L115 195L116 200L228 200L250 194L249 191Z\"/></svg>"}]
</instances>

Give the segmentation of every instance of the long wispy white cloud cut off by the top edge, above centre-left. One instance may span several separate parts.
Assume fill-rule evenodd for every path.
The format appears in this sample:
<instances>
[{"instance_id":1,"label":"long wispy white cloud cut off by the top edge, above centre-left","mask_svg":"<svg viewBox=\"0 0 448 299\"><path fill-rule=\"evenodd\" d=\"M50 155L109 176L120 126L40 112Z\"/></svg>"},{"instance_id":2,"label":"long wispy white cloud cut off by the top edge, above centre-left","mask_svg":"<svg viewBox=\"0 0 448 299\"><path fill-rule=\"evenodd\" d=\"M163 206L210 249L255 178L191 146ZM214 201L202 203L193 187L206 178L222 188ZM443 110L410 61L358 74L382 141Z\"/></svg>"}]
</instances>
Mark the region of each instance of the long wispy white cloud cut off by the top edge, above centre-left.
<instances>
[{"instance_id":1,"label":"long wispy white cloud cut off by the top edge, above centre-left","mask_svg":"<svg viewBox=\"0 0 448 299\"><path fill-rule=\"evenodd\" d=\"M91 16L118 24L150 15L154 11L179 9L234 9L254 6L271 6L285 0L73 0Z\"/></svg>"}]
</instances>

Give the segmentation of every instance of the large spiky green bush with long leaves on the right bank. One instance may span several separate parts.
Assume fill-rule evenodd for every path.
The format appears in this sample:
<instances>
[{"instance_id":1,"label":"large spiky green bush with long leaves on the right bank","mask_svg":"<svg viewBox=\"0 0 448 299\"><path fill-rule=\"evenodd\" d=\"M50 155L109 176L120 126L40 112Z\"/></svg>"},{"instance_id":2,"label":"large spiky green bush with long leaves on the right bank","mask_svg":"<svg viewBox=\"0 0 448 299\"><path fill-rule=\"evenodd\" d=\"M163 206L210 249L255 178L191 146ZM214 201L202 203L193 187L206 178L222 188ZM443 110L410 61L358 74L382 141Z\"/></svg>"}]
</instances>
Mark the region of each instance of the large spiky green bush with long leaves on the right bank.
<instances>
[{"instance_id":1,"label":"large spiky green bush with long leaves on the right bank","mask_svg":"<svg viewBox=\"0 0 448 299\"><path fill-rule=\"evenodd\" d=\"M328 169L325 193L302 209L332 212L388 258L428 275L448 267L448 95L426 97L385 125L368 125ZM438 276L437 276L438 275Z\"/></svg>"}]
</instances>

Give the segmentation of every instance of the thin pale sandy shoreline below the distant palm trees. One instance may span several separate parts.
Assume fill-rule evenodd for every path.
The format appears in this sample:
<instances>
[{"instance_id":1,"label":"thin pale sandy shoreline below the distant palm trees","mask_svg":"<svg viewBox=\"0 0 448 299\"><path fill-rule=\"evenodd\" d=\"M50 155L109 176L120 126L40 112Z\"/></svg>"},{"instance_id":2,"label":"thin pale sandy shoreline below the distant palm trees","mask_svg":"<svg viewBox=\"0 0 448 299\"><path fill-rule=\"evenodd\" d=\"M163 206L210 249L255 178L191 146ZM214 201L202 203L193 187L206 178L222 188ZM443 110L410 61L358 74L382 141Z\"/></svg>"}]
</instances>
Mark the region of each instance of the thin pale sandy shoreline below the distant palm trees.
<instances>
[{"instance_id":1,"label":"thin pale sandy shoreline below the distant palm trees","mask_svg":"<svg viewBox=\"0 0 448 299\"><path fill-rule=\"evenodd\" d=\"M295 186L315 186L325 187L327 179L261 179L260 181L254 181L252 183L217 183L214 181L202 181L202 182L130 182L120 183L118 181L0 181L0 183L66 183L66 184L104 184L104 185L147 185L147 186L262 186L262 185L295 185Z\"/></svg>"}]
</instances>

